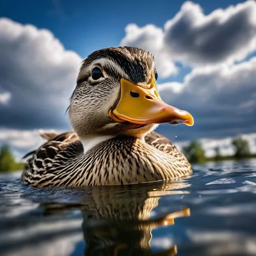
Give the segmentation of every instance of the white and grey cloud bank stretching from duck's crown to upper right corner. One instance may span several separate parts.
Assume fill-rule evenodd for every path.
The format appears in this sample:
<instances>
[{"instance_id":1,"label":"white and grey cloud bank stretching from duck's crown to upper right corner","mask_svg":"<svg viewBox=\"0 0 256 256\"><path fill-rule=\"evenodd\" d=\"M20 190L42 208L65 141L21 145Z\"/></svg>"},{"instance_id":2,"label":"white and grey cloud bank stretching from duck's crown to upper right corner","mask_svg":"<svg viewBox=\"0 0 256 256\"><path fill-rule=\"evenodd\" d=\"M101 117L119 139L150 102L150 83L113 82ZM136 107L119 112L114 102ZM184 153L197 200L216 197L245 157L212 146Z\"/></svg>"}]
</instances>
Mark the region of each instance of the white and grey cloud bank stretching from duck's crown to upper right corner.
<instances>
[{"instance_id":1,"label":"white and grey cloud bank stretching from duck's crown to upper right corner","mask_svg":"<svg viewBox=\"0 0 256 256\"><path fill-rule=\"evenodd\" d=\"M256 50L256 2L217 9L208 15L198 4L185 2L163 28L127 25L121 45L155 53L162 77L177 73L176 61L192 67L234 63Z\"/></svg>"}]
</instances>

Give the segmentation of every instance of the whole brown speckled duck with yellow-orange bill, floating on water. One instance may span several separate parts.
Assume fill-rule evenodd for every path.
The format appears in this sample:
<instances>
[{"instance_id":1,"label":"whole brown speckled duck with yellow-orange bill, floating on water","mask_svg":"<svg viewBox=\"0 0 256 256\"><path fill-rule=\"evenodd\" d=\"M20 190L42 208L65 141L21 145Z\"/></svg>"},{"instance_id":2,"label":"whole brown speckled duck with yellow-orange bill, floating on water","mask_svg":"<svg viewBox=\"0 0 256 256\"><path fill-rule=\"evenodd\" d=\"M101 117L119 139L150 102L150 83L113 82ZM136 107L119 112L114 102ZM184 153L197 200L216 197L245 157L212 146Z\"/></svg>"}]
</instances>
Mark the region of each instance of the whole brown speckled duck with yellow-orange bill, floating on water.
<instances>
[{"instance_id":1,"label":"whole brown speckled duck with yellow-orange bill, floating on water","mask_svg":"<svg viewBox=\"0 0 256 256\"><path fill-rule=\"evenodd\" d=\"M22 183L33 187L124 185L191 174L187 158L154 130L191 126L193 116L159 94L155 57L136 47L110 47L81 63L67 112L73 131L44 133L26 155Z\"/></svg>"}]
</instances>

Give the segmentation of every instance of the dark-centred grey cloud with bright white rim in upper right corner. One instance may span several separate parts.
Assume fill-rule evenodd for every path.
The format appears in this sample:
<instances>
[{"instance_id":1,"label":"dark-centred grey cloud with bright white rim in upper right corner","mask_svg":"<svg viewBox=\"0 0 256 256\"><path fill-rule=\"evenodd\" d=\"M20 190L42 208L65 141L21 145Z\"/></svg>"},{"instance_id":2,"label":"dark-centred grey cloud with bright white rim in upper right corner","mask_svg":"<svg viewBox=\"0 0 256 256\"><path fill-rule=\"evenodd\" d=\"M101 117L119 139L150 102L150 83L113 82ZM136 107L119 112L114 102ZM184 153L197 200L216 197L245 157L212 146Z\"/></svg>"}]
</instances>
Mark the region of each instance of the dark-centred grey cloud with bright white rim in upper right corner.
<instances>
[{"instance_id":1,"label":"dark-centred grey cloud with bright white rim in upper right corner","mask_svg":"<svg viewBox=\"0 0 256 256\"><path fill-rule=\"evenodd\" d=\"M164 31L164 44L175 59L192 65L241 60L256 49L256 3L204 15L199 5L186 2Z\"/></svg>"}]
</instances>

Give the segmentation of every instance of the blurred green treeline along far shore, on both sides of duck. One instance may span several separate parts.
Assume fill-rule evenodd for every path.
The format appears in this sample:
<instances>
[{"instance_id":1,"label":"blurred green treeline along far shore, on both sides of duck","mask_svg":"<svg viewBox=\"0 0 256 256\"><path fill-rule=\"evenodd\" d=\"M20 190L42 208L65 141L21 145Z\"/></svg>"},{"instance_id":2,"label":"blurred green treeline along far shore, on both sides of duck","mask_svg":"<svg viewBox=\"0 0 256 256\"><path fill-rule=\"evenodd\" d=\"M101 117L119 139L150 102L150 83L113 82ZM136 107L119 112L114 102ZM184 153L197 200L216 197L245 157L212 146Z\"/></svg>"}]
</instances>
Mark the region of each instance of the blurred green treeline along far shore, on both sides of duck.
<instances>
[{"instance_id":1,"label":"blurred green treeline along far shore, on both sides of duck","mask_svg":"<svg viewBox=\"0 0 256 256\"><path fill-rule=\"evenodd\" d=\"M221 156L220 148L215 148L215 157L207 158L200 142L191 141L188 146L182 148L183 153L190 163L203 163L206 161L221 161L229 159L243 159L256 157L251 154L248 141L242 137L234 138L232 145L236 148L233 156ZM24 163L16 162L8 145L3 145L0 149L0 172L11 172L23 169Z\"/></svg>"}]
</instances>

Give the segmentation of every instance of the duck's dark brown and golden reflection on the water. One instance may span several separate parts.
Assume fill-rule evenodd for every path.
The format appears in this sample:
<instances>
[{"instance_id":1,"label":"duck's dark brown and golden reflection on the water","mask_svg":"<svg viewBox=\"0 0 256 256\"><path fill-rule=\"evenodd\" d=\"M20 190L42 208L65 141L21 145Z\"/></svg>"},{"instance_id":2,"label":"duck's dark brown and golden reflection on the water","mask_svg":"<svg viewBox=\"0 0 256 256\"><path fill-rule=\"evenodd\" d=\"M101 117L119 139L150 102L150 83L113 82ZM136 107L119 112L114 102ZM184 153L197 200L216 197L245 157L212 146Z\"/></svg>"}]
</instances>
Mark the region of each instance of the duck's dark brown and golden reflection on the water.
<instances>
[{"instance_id":1,"label":"duck's dark brown and golden reflection on the water","mask_svg":"<svg viewBox=\"0 0 256 256\"><path fill-rule=\"evenodd\" d=\"M84 255L175 255L174 245L161 252L151 248L152 230L174 225L175 218L188 217L189 208L151 218L153 209L164 195L186 194L178 190L185 183L158 182L146 185L88 188L79 204L41 204L44 214L63 214L80 209L83 215L82 231L86 247ZM175 190L174 190L175 189ZM83 190L84 191L84 190Z\"/></svg>"}]
</instances>

